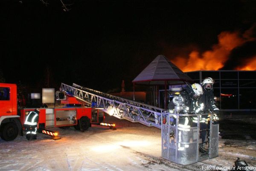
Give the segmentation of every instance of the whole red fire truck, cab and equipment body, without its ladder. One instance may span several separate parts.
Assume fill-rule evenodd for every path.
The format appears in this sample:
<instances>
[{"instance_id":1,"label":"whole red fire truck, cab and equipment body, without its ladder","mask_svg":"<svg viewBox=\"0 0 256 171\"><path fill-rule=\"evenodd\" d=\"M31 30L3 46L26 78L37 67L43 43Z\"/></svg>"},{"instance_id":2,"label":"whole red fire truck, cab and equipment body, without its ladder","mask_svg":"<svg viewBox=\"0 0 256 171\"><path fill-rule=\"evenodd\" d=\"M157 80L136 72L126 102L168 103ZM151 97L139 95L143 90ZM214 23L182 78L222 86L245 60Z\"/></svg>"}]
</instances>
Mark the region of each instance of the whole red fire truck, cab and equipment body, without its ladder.
<instances>
[{"instance_id":1,"label":"whole red fire truck, cab and equipment body, without its ladder","mask_svg":"<svg viewBox=\"0 0 256 171\"><path fill-rule=\"evenodd\" d=\"M78 104L70 97L72 103ZM67 100L64 102L67 103ZM17 86L0 83L0 136L3 140L14 140L23 133L23 123L33 108L17 110ZM76 130L87 130L91 124L104 122L105 113L92 107L39 108L38 128L74 126Z\"/></svg>"}]
</instances>

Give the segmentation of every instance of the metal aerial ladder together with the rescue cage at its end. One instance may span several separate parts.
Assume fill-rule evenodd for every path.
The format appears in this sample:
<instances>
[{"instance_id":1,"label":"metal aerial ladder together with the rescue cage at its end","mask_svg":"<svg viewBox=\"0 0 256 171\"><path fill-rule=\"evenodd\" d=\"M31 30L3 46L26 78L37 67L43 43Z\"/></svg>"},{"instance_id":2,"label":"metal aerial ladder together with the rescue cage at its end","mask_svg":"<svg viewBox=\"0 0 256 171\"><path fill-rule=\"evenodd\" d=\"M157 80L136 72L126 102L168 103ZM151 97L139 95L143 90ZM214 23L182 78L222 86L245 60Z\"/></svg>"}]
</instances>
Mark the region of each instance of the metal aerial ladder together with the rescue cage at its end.
<instances>
[{"instance_id":1,"label":"metal aerial ladder together with the rescue cage at its end","mask_svg":"<svg viewBox=\"0 0 256 171\"><path fill-rule=\"evenodd\" d=\"M96 105L101 110L118 119L139 122L146 126L161 129L162 157L172 162L189 165L206 159L218 157L218 122L213 119L213 113L184 113L183 98L176 98L177 104L173 113L155 106L124 99L107 93L74 84L69 86L61 83L61 91L76 97L90 105ZM196 117L208 116L207 143L202 142L200 123L194 126L182 126L180 122ZM204 145L204 151L200 151Z\"/></svg>"}]
</instances>

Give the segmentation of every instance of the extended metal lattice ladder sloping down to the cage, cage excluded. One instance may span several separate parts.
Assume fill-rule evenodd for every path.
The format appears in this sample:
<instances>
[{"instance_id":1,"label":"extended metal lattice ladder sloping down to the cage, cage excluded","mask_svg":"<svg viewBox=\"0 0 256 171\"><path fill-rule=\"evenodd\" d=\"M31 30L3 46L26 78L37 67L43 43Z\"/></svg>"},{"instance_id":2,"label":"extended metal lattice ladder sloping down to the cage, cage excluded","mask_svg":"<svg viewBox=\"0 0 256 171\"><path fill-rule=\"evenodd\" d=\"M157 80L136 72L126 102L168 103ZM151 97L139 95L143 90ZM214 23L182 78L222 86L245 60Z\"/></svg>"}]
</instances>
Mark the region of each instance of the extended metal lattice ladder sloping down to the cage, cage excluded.
<instances>
[{"instance_id":1,"label":"extended metal lattice ladder sloping down to the cage, cage excluded","mask_svg":"<svg viewBox=\"0 0 256 171\"><path fill-rule=\"evenodd\" d=\"M116 118L161 128L161 112L164 109L112 96L107 93L81 87L77 84L69 86L61 83L61 90L88 104L95 102L97 107L102 108L102 111Z\"/></svg>"}]
</instances>

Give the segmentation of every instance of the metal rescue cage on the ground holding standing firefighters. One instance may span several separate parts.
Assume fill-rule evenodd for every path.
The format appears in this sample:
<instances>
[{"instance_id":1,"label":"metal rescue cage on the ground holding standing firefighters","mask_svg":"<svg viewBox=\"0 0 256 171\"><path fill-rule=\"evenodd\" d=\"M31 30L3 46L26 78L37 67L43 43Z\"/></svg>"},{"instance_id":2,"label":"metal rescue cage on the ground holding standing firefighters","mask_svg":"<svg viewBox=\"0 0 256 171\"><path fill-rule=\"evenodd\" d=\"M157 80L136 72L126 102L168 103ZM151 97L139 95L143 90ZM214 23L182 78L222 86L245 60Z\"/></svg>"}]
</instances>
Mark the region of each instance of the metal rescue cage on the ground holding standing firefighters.
<instances>
[{"instance_id":1,"label":"metal rescue cage on the ground holding standing firefighters","mask_svg":"<svg viewBox=\"0 0 256 171\"><path fill-rule=\"evenodd\" d=\"M207 122L193 123L192 117L197 118L197 121L207 118ZM190 165L218 157L219 124L213 120L212 113L200 115L162 113L161 120L162 157L164 159L181 165ZM188 125L180 124L184 120Z\"/></svg>"}]
</instances>

